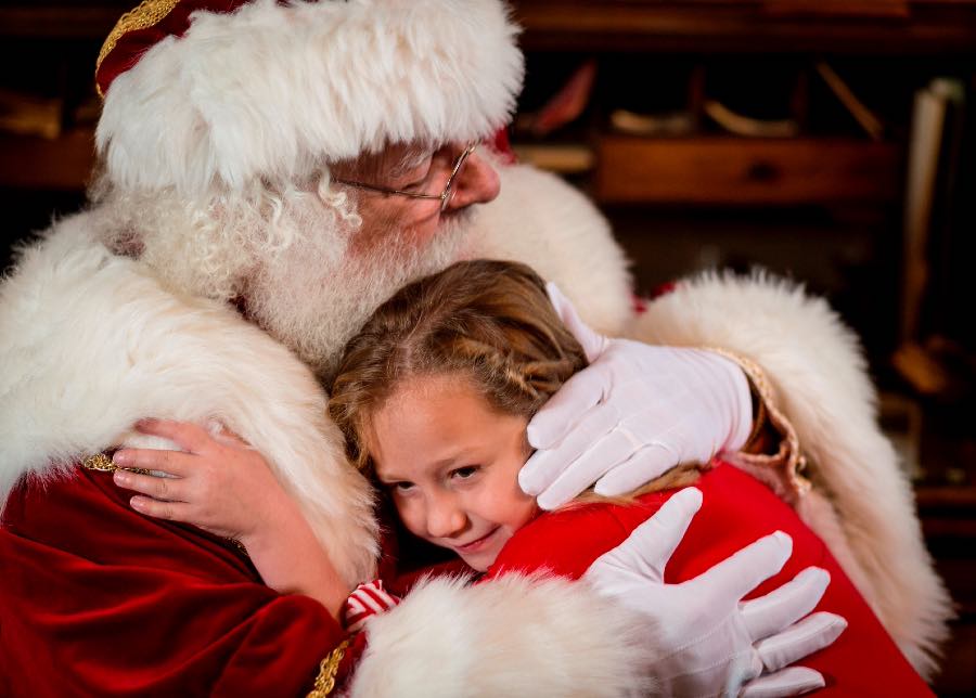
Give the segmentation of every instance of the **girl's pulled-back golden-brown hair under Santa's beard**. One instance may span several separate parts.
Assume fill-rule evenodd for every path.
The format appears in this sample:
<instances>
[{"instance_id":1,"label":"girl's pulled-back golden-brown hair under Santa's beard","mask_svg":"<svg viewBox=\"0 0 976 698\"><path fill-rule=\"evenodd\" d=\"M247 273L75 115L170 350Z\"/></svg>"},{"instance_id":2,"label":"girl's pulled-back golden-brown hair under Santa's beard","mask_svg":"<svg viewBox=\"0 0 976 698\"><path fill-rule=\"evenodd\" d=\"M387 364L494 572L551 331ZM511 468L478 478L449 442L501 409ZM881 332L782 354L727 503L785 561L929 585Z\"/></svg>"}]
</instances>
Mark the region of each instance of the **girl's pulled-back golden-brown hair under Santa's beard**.
<instances>
[{"instance_id":1,"label":"girl's pulled-back golden-brown hair under Santa's beard","mask_svg":"<svg viewBox=\"0 0 976 698\"><path fill-rule=\"evenodd\" d=\"M407 378L457 373L499 412L531 418L586 366L582 347L535 271L518 262L462 261L376 309L346 345L329 413L356 467L372 470L363 438L370 417ZM676 475L637 493L685 482Z\"/></svg>"}]
</instances>

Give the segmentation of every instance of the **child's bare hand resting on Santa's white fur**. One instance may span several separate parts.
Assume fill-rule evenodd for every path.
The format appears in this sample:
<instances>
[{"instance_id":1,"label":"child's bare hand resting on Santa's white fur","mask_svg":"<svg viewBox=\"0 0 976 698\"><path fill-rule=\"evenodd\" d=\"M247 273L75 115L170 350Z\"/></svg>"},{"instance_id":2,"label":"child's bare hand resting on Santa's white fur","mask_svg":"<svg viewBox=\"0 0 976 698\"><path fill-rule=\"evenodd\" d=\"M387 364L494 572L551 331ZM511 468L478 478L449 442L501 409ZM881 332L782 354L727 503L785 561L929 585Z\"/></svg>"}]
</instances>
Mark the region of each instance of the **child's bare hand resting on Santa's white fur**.
<instances>
[{"instance_id":1,"label":"child's bare hand resting on Santa's white fur","mask_svg":"<svg viewBox=\"0 0 976 698\"><path fill-rule=\"evenodd\" d=\"M143 434L164 437L183 449L125 449L113 462L172 477L115 471L119 487L140 492L132 508L156 518L192 524L205 531L241 541L279 522L282 507L297 507L279 484L259 453L230 432L217 437L183 422L145 419Z\"/></svg>"}]
</instances>

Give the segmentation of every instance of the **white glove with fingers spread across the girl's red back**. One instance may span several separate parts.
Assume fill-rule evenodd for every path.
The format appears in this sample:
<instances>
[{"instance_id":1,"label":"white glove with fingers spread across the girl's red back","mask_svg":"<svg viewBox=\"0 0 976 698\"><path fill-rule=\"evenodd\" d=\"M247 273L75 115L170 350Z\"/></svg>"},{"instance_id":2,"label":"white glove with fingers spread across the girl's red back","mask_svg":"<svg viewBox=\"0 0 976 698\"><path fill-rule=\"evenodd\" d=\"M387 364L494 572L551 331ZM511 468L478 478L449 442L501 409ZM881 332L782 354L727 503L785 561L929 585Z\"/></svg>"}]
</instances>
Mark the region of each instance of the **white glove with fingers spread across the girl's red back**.
<instances>
[{"instance_id":1,"label":"white glove with fingers spread across the girl's red back","mask_svg":"<svg viewBox=\"0 0 976 698\"><path fill-rule=\"evenodd\" d=\"M648 674L663 695L765 698L822 687L819 672L783 668L847 628L827 612L797 622L823 596L826 570L809 567L766 596L742 600L789 558L793 541L785 533L761 538L692 580L664 583L665 565L701 506L699 490L681 490L583 579L647 619L647 642L656 650Z\"/></svg>"}]
</instances>

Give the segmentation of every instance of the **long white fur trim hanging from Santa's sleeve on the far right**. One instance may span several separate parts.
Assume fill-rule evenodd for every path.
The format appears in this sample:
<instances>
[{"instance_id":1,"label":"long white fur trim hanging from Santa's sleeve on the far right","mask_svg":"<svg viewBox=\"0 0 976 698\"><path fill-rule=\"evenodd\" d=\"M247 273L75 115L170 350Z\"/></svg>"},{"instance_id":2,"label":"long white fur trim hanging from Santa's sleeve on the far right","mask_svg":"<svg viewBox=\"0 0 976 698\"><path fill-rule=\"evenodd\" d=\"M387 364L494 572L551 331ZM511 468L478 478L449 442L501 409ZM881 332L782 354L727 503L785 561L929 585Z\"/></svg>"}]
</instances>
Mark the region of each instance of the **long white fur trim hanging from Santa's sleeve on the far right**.
<instances>
[{"instance_id":1,"label":"long white fur trim hanging from Santa's sleeve on the far right","mask_svg":"<svg viewBox=\"0 0 976 698\"><path fill-rule=\"evenodd\" d=\"M922 540L908 478L876 419L856 335L821 298L768 275L705 274L650 303L633 336L720 347L758 363L796 427L814 490L797 509L923 675L950 599Z\"/></svg>"}]
</instances>

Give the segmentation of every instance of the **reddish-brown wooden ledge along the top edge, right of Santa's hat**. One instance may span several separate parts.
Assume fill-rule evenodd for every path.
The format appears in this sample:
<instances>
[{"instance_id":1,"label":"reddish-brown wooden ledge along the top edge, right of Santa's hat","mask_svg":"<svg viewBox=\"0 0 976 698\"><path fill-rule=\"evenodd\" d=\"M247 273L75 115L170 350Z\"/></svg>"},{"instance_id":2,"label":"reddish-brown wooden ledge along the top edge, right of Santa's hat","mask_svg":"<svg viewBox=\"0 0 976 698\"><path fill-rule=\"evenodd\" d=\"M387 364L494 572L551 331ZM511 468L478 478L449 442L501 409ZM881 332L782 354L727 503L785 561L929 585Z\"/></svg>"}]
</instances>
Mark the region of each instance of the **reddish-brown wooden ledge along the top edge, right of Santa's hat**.
<instances>
[{"instance_id":1,"label":"reddish-brown wooden ledge along the top edge, right of Santa's hat","mask_svg":"<svg viewBox=\"0 0 976 698\"><path fill-rule=\"evenodd\" d=\"M976 0L518 0L528 50L976 54Z\"/></svg>"}]
</instances>

